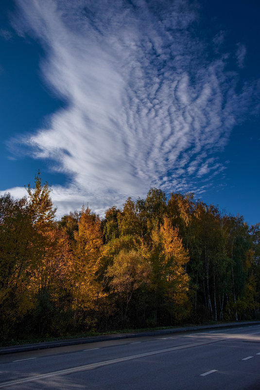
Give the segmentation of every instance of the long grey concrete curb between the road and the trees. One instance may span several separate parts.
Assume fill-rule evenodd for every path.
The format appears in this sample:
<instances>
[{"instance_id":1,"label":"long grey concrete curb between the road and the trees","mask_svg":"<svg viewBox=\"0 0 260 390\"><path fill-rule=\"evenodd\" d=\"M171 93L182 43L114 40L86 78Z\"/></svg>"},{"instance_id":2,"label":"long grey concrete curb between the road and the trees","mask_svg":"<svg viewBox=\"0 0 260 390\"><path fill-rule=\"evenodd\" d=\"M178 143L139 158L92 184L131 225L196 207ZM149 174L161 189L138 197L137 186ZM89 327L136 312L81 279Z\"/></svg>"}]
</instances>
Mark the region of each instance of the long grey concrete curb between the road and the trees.
<instances>
[{"instance_id":1,"label":"long grey concrete curb between the road and the trees","mask_svg":"<svg viewBox=\"0 0 260 390\"><path fill-rule=\"evenodd\" d=\"M107 340L119 340L125 338L154 336L158 334L172 334L172 333L181 333L181 332L188 332L188 331L196 332L198 330L232 328L236 326L259 325L259 324L260 321L246 321L246 322L243 321L243 322L230 322L226 324L215 324L215 325L187 326L187 327L161 329L161 330L139 332L139 333L104 334L101 336L90 336L85 338L74 338L68 340L47 341L47 342L41 342L35 344L16 345L12 347L1 347L0 354L36 351L36 350L42 350L47 348L65 347L68 345L88 344L88 343L95 343L95 342L107 341Z\"/></svg>"}]
</instances>

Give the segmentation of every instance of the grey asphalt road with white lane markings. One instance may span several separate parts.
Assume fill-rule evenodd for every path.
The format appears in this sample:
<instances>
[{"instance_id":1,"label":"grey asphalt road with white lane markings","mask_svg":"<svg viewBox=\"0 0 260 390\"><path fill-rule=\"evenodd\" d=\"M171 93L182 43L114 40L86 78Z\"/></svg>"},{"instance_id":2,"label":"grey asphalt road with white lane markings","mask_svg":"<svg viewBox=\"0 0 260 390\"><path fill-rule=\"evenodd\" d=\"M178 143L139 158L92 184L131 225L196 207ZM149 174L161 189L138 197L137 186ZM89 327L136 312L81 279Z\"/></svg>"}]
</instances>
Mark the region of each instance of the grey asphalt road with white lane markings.
<instances>
[{"instance_id":1,"label":"grey asphalt road with white lane markings","mask_svg":"<svg viewBox=\"0 0 260 390\"><path fill-rule=\"evenodd\" d=\"M0 389L260 390L260 325L1 355Z\"/></svg>"}]
</instances>

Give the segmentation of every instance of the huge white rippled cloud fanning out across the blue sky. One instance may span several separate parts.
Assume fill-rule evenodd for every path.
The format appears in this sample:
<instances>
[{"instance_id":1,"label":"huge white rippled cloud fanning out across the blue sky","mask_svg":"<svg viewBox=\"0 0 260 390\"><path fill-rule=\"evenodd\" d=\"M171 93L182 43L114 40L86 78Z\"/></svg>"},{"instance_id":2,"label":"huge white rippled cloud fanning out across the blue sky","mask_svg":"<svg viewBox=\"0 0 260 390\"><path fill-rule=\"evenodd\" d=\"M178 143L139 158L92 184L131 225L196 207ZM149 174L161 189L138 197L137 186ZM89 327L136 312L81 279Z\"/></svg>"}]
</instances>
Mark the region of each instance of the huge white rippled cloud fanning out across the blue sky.
<instances>
[{"instance_id":1,"label":"huge white rippled cloud fanning out across the blue sky","mask_svg":"<svg viewBox=\"0 0 260 390\"><path fill-rule=\"evenodd\" d=\"M22 139L35 159L51 159L54 170L69 174L66 188L53 187L63 210L85 197L103 210L151 186L199 193L209 171L224 169L216 153L252 89L237 91L226 55L215 50L206 59L207 44L191 32L199 19L195 6L182 0L17 6L18 34L42 44L41 72L66 102L45 128ZM222 31L214 44L223 37ZM244 55L238 46L240 67Z\"/></svg>"}]
</instances>

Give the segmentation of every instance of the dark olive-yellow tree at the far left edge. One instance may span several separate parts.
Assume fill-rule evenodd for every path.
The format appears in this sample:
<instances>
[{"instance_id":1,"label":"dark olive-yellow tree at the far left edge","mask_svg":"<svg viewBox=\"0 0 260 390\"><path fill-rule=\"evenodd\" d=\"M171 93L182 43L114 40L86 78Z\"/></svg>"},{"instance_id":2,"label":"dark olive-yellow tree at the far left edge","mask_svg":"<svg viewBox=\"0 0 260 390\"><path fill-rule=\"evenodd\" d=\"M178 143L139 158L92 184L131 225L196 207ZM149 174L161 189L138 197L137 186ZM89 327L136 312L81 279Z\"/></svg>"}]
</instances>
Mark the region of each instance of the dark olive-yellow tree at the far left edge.
<instances>
[{"instance_id":1,"label":"dark olive-yellow tree at the far left edge","mask_svg":"<svg viewBox=\"0 0 260 390\"><path fill-rule=\"evenodd\" d=\"M34 228L26 198L0 197L0 334L15 332L16 325L34 306L27 292L27 269L35 260ZM12 334L14 336L14 334Z\"/></svg>"}]
</instances>

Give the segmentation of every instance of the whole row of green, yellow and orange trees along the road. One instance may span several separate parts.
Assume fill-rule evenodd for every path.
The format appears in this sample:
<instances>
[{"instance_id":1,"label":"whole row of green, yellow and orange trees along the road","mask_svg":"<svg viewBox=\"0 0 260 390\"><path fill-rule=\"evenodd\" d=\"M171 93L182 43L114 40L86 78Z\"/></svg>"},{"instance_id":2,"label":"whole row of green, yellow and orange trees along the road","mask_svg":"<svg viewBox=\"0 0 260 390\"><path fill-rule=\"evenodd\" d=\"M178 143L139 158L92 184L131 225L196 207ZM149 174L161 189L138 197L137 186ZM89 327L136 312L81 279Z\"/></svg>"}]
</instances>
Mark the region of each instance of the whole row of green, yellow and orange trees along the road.
<instances>
[{"instance_id":1,"label":"whole row of green, yellow and orange trees along the road","mask_svg":"<svg viewBox=\"0 0 260 390\"><path fill-rule=\"evenodd\" d=\"M151 188L55 220L51 187L0 197L0 337L259 317L260 224Z\"/></svg>"}]
</instances>

